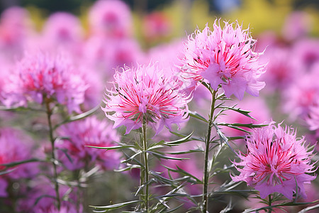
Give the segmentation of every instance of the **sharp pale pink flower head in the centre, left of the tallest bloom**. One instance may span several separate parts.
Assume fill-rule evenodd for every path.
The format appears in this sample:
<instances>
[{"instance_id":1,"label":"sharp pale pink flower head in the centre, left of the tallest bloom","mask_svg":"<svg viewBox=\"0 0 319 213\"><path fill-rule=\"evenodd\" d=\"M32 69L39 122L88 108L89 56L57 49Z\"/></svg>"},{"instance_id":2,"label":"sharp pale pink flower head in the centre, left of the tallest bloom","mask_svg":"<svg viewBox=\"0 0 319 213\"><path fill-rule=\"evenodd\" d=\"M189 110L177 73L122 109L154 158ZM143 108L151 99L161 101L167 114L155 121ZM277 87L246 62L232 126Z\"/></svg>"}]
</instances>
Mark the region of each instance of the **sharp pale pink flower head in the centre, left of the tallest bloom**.
<instances>
[{"instance_id":1,"label":"sharp pale pink flower head in the centre, left of the tallest bloom","mask_svg":"<svg viewBox=\"0 0 319 213\"><path fill-rule=\"evenodd\" d=\"M171 129L172 124L186 121L189 99L179 93L179 80L172 72L157 63L124 67L114 78L116 92L108 91L103 108L108 119L115 121L114 128L124 125L129 133L140 128L144 118L157 134L163 126ZM115 113L108 114L111 111Z\"/></svg>"}]
</instances>

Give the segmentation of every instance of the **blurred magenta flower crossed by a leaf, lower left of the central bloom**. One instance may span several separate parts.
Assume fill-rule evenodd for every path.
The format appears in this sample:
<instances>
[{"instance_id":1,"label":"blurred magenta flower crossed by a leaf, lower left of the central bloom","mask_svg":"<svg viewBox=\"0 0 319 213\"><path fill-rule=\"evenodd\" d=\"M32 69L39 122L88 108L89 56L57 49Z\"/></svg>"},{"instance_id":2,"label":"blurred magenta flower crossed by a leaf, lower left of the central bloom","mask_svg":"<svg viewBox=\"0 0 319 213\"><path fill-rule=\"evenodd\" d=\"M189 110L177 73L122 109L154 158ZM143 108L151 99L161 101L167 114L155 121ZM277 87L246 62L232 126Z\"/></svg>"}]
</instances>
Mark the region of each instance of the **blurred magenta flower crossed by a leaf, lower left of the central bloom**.
<instances>
[{"instance_id":1,"label":"blurred magenta flower crossed by a leaf, lower left of the central bloom","mask_svg":"<svg viewBox=\"0 0 319 213\"><path fill-rule=\"evenodd\" d=\"M87 147L114 146L113 142L119 141L118 134L106 121L99 121L95 116L90 116L60 127L58 133L68 138L57 141L56 147L60 151L60 160L69 170L86 168L94 163L101 165L103 169L118 168L121 153Z\"/></svg>"}]
</instances>

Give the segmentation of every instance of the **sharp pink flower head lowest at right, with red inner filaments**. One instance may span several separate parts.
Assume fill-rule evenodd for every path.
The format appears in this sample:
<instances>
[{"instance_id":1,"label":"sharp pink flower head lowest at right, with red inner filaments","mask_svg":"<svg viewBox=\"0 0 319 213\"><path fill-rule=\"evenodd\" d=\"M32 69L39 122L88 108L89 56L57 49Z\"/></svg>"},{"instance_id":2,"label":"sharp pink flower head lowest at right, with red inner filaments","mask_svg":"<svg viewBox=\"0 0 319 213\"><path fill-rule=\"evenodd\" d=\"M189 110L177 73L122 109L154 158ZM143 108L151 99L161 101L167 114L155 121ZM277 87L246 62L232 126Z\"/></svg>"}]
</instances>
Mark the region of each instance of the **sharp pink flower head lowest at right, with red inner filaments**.
<instances>
[{"instance_id":1,"label":"sharp pink flower head lowest at right, with red inner filaments","mask_svg":"<svg viewBox=\"0 0 319 213\"><path fill-rule=\"evenodd\" d=\"M296 131L272 123L247 136L247 154L240 154L241 161L234 162L240 175L232 178L247 182L263 199L273 192L290 200L293 192L306 197L303 184L316 178L308 175L315 168L312 156L304 138L296 138Z\"/></svg>"}]
</instances>

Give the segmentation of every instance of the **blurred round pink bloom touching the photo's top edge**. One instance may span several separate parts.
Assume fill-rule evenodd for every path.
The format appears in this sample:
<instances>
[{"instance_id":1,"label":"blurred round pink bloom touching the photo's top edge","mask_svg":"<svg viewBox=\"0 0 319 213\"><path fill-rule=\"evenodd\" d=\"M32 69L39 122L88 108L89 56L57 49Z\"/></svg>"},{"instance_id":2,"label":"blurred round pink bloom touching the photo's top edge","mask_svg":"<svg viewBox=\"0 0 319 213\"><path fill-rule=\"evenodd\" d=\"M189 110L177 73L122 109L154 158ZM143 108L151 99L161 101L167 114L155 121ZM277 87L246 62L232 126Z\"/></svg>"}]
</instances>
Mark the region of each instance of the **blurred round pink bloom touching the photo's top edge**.
<instances>
[{"instance_id":1,"label":"blurred round pink bloom touching the photo's top edge","mask_svg":"<svg viewBox=\"0 0 319 213\"><path fill-rule=\"evenodd\" d=\"M96 1L89 11L89 26L93 34L128 37L132 30L131 20L130 8L119 0Z\"/></svg>"}]
</instances>

